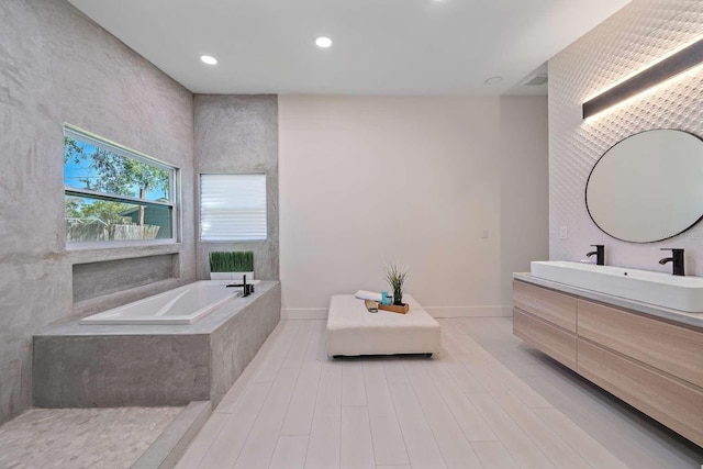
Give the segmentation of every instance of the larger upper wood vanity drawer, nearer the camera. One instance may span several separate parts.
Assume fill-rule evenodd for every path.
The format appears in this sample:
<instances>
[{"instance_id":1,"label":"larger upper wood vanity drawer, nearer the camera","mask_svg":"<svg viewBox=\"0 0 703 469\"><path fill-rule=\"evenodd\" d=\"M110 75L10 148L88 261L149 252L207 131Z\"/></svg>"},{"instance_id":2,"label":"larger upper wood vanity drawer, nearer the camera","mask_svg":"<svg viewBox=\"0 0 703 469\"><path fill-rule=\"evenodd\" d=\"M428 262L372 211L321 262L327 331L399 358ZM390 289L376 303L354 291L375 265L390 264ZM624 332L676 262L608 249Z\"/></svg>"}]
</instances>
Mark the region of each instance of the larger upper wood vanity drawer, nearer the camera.
<instances>
[{"instance_id":1,"label":"larger upper wood vanity drawer, nearer the camera","mask_svg":"<svg viewBox=\"0 0 703 469\"><path fill-rule=\"evenodd\" d=\"M578 301L580 337L703 388L703 331Z\"/></svg>"}]
</instances>

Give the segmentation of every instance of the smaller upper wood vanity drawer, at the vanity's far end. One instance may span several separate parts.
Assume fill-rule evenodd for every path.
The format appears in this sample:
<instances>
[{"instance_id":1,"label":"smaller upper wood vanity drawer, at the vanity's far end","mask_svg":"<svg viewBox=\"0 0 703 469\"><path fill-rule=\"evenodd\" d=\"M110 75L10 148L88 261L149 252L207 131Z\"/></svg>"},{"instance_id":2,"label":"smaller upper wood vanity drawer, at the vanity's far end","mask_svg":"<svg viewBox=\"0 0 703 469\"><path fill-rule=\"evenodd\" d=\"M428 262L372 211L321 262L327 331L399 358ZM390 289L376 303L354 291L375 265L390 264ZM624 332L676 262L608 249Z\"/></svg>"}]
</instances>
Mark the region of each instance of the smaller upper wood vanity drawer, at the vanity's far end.
<instances>
[{"instance_id":1,"label":"smaller upper wood vanity drawer, at the vanity's far end","mask_svg":"<svg viewBox=\"0 0 703 469\"><path fill-rule=\"evenodd\" d=\"M576 297L513 281L513 304L549 323L576 333Z\"/></svg>"}]
</instances>

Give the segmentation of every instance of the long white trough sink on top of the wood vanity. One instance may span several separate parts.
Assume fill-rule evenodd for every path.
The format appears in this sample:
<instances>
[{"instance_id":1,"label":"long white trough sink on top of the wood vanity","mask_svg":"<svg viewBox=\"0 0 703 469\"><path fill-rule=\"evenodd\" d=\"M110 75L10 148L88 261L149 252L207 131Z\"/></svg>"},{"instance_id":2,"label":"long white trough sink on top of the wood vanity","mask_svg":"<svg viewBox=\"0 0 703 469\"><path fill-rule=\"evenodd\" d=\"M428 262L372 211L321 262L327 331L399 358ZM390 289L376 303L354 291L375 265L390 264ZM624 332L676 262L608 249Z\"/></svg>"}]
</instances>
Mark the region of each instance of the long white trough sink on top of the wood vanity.
<instances>
[{"instance_id":1,"label":"long white trough sink on top of the wood vanity","mask_svg":"<svg viewBox=\"0 0 703 469\"><path fill-rule=\"evenodd\" d=\"M529 271L533 277L571 287L687 313L703 313L703 277L678 277L563 260L533 261Z\"/></svg>"}]
</instances>

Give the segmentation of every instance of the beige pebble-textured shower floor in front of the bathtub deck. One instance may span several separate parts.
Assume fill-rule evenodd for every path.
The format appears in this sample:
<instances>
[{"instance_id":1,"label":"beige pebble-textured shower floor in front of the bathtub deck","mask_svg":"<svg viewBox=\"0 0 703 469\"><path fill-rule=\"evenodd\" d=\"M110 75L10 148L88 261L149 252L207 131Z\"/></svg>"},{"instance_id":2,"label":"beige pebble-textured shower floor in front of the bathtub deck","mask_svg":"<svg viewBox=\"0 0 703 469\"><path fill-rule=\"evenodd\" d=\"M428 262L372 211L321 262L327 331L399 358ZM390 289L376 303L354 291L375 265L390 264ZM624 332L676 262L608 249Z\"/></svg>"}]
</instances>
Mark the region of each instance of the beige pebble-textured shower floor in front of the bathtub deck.
<instances>
[{"instance_id":1,"label":"beige pebble-textured shower floor in front of the bathtub deck","mask_svg":"<svg viewBox=\"0 0 703 469\"><path fill-rule=\"evenodd\" d=\"M181 411L32 409L0 427L0 468L129 468Z\"/></svg>"}]
</instances>

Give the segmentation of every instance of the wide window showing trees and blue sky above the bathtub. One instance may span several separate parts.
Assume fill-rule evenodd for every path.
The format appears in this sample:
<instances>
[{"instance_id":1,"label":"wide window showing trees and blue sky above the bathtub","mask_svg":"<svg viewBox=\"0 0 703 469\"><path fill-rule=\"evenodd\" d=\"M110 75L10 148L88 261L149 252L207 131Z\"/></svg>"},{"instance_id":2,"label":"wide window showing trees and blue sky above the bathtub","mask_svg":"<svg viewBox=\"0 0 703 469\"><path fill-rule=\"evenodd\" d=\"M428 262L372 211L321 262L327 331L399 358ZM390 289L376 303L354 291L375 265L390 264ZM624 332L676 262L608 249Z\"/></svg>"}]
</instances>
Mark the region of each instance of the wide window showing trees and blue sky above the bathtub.
<instances>
[{"instance_id":1,"label":"wide window showing trees and blue sky above the bathtub","mask_svg":"<svg viewBox=\"0 0 703 469\"><path fill-rule=\"evenodd\" d=\"M175 241L176 168L64 127L68 243Z\"/></svg>"}]
</instances>

